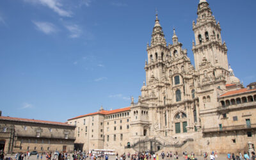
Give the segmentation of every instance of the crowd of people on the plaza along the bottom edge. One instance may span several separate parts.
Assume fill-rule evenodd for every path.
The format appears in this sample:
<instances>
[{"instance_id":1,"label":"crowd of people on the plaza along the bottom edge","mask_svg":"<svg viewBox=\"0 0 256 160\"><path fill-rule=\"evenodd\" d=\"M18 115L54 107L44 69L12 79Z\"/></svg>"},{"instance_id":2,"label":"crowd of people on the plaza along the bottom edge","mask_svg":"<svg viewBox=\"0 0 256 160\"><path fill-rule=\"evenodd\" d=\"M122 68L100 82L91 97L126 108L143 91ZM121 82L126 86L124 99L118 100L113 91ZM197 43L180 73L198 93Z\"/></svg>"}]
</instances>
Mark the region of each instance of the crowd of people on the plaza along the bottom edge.
<instances>
[{"instance_id":1,"label":"crowd of people on the plaza along the bottom edge","mask_svg":"<svg viewBox=\"0 0 256 160\"><path fill-rule=\"evenodd\" d=\"M12 160L12 158L10 157L4 157L4 152L3 150L0 150L0 160ZM31 157L30 152L26 152L26 153L17 153L15 154L15 160L26 160L29 159L29 157ZM73 154L68 154L68 153L58 153L58 154L54 154L52 155L52 152L44 152L42 154L36 154L36 159L40 159L42 160L43 157L45 157L46 160L87 160L87 159L91 159L91 160L108 160L109 159L109 155L106 152L77 152L75 151ZM215 151L212 151L211 153L207 154L207 152L204 152L203 154L204 160L206 159L211 159L211 160L215 160L218 159L218 154ZM182 156L179 157L179 154L177 152L172 153L172 151L170 152L161 152L159 154L157 153L150 153L150 152L141 152L141 153L135 153L135 154L115 154L115 160L125 160L125 159L129 159L129 160L163 160L163 159L185 159L185 160L196 160L196 156L193 152L188 153L188 152L183 152ZM228 160L256 160L256 156L255 156L255 152L252 152L249 156L249 154L247 152L244 152L243 154L241 154L241 152L239 152L238 154L234 154L234 153L228 153L227 154L227 159Z\"/></svg>"}]
</instances>

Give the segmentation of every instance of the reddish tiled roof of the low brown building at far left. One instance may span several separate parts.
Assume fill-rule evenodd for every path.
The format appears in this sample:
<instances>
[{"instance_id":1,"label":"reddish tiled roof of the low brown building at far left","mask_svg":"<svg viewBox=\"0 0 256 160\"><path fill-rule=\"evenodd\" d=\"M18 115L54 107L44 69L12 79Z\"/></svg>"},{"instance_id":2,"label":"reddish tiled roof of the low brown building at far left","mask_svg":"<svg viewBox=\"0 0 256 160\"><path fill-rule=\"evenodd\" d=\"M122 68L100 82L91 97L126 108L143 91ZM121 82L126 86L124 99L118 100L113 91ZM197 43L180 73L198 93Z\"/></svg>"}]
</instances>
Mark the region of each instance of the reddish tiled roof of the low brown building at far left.
<instances>
[{"instance_id":1,"label":"reddish tiled roof of the low brown building at far left","mask_svg":"<svg viewBox=\"0 0 256 160\"><path fill-rule=\"evenodd\" d=\"M62 122L52 122L52 121L47 121L47 120L33 120L33 119L16 118L16 117L10 117L10 116L0 116L0 120L31 122L31 123L38 123L38 124L53 124L53 125L74 126L74 125L69 125L69 124L65 124L65 123L62 123Z\"/></svg>"}]
</instances>

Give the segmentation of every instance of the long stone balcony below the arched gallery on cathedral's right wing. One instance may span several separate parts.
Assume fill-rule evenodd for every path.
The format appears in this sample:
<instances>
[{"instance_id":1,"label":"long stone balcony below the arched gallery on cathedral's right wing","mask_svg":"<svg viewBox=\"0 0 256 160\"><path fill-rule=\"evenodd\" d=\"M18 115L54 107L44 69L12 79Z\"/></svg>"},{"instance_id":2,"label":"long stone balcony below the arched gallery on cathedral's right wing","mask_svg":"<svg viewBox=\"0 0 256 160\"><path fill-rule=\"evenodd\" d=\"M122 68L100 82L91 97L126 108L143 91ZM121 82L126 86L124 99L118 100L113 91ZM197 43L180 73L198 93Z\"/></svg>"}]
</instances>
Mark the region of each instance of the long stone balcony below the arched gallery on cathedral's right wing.
<instances>
[{"instance_id":1,"label":"long stone balcony below the arched gallery on cathedral's right wing","mask_svg":"<svg viewBox=\"0 0 256 160\"><path fill-rule=\"evenodd\" d=\"M230 125L230 126L224 126L222 128L220 127L212 127L212 128L203 128L203 133L210 133L210 132L228 132L228 131L241 131L241 130L252 130L256 129L256 124L251 125Z\"/></svg>"}]
</instances>

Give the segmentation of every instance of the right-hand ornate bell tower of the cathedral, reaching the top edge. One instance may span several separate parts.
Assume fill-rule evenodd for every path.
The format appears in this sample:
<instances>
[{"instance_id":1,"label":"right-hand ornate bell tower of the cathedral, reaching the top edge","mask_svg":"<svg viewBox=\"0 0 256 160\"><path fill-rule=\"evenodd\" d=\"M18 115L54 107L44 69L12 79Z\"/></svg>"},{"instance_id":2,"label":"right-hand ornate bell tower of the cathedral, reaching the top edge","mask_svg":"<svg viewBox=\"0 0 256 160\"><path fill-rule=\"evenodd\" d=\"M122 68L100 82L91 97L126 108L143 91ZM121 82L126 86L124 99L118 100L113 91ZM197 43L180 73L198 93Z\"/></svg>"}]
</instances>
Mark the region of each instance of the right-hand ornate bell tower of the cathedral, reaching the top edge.
<instances>
[{"instance_id":1,"label":"right-hand ornate bell tower of the cathedral, reaching the top edge","mask_svg":"<svg viewBox=\"0 0 256 160\"><path fill-rule=\"evenodd\" d=\"M192 48L196 70L199 70L203 60L207 60L212 67L227 71L227 46L221 39L220 22L216 22L206 0L200 0L197 15L196 22L193 21L195 42Z\"/></svg>"}]
</instances>

